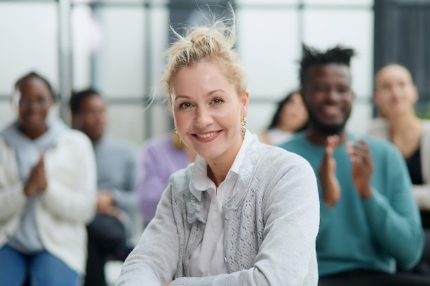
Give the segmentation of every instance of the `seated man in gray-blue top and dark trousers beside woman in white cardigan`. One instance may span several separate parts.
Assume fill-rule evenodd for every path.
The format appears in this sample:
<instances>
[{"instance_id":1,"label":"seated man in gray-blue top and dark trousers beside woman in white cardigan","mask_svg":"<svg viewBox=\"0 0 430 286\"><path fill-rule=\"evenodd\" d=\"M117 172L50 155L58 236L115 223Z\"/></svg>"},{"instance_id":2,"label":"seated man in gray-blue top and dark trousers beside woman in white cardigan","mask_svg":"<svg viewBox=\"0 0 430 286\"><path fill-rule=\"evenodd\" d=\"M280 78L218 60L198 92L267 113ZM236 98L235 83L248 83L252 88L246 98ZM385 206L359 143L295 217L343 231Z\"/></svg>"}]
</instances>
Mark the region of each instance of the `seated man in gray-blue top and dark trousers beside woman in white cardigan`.
<instances>
[{"instance_id":1,"label":"seated man in gray-blue top and dark trousers beside woman in white cardigan","mask_svg":"<svg viewBox=\"0 0 430 286\"><path fill-rule=\"evenodd\" d=\"M127 240L133 234L137 211L136 147L105 134L106 103L93 88L73 93L72 126L93 143L97 165L97 215L88 225L88 261L85 286L105 286L104 264L109 258L124 260Z\"/></svg>"}]
</instances>

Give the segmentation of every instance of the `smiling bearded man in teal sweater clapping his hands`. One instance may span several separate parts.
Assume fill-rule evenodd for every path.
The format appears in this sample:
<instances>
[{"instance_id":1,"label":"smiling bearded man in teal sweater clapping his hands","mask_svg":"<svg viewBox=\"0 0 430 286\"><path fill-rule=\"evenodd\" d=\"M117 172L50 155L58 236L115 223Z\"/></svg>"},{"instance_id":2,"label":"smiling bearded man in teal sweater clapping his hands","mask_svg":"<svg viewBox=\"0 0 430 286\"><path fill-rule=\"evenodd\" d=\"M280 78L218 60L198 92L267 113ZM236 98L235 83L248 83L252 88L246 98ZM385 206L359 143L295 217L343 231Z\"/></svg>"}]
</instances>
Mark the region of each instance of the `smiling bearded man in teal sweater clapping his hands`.
<instances>
[{"instance_id":1,"label":"smiling bearded man in teal sweater clapping his hands","mask_svg":"<svg viewBox=\"0 0 430 286\"><path fill-rule=\"evenodd\" d=\"M346 131L354 93L353 49L303 48L306 131L281 147L306 158L318 176L319 285L430 285L396 272L416 265L423 234L405 162L394 145Z\"/></svg>"}]
</instances>

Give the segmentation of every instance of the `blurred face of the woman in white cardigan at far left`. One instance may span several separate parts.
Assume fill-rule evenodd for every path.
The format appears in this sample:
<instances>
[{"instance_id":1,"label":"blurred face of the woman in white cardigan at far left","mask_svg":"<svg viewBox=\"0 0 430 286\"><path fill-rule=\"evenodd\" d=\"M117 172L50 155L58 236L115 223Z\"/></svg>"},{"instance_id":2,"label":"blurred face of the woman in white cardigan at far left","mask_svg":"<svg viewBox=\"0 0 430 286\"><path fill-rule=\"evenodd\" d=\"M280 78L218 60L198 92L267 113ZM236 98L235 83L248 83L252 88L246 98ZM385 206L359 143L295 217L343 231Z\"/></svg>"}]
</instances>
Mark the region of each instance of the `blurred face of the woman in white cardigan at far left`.
<instances>
[{"instance_id":1,"label":"blurred face of the woman in white cardigan at far left","mask_svg":"<svg viewBox=\"0 0 430 286\"><path fill-rule=\"evenodd\" d=\"M49 87L39 78L29 78L19 86L19 123L25 128L38 129L46 125L52 106Z\"/></svg>"}]
</instances>

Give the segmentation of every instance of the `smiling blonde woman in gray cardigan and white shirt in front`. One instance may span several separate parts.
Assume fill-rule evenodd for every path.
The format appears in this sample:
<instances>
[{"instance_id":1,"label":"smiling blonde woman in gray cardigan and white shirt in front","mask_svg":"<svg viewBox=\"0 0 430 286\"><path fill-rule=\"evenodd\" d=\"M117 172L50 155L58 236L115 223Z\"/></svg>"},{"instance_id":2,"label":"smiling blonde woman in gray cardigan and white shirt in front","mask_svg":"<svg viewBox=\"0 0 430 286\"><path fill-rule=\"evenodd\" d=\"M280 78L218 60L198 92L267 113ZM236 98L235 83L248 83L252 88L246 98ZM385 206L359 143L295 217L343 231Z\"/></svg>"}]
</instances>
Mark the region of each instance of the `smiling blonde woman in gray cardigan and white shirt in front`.
<instances>
[{"instance_id":1,"label":"smiling blonde woman in gray cardigan and white shirt in front","mask_svg":"<svg viewBox=\"0 0 430 286\"><path fill-rule=\"evenodd\" d=\"M170 177L118 286L317 285L315 174L245 128L232 22L195 27L166 53L174 126L197 156Z\"/></svg>"}]
</instances>

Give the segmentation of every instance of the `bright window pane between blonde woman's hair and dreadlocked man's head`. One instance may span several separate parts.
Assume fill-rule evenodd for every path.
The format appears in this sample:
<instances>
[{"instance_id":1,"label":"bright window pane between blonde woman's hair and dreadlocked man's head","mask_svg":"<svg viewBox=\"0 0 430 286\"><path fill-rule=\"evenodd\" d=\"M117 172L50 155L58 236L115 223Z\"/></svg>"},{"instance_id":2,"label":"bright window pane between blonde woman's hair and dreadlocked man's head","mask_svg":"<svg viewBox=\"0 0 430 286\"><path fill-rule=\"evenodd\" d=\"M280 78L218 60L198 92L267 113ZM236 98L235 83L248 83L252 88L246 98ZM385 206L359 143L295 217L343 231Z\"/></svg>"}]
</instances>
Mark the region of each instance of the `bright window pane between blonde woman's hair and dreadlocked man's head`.
<instances>
[{"instance_id":1,"label":"bright window pane between blonde woman's hair and dreadlocked man's head","mask_svg":"<svg viewBox=\"0 0 430 286\"><path fill-rule=\"evenodd\" d=\"M297 88L299 35L296 10L237 12L238 51L252 97L278 99Z\"/></svg>"}]
</instances>

